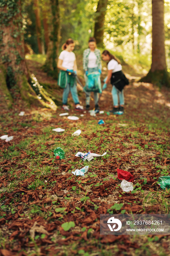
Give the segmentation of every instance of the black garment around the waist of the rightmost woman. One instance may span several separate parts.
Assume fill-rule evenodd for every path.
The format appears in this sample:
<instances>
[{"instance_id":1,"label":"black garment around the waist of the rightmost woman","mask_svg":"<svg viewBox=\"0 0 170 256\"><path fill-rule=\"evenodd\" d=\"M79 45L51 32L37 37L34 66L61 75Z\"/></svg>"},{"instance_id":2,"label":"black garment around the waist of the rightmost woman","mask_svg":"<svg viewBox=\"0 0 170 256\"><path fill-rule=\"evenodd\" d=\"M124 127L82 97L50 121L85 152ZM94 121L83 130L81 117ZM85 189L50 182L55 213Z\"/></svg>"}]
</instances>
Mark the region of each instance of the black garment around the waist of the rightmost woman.
<instances>
[{"instance_id":1,"label":"black garment around the waist of the rightmost woman","mask_svg":"<svg viewBox=\"0 0 170 256\"><path fill-rule=\"evenodd\" d=\"M122 91L125 85L129 84L129 80L120 70L115 73L112 73L111 84L114 85L117 88L117 90Z\"/></svg>"}]
</instances>

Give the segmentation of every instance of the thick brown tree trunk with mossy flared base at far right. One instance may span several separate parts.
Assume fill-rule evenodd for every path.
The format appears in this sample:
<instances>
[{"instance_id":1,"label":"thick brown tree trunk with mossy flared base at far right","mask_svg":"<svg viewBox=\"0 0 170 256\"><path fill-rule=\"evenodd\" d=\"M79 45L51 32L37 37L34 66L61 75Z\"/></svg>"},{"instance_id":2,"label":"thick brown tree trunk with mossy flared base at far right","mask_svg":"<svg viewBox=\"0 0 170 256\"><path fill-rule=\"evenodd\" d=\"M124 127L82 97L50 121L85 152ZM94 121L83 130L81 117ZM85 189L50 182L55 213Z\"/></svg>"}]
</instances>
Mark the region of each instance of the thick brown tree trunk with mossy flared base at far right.
<instances>
[{"instance_id":1,"label":"thick brown tree trunk with mossy flared base at far right","mask_svg":"<svg viewBox=\"0 0 170 256\"><path fill-rule=\"evenodd\" d=\"M167 72L164 32L164 1L152 0L152 64L144 82L170 87L170 74Z\"/></svg>"}]
</instances>

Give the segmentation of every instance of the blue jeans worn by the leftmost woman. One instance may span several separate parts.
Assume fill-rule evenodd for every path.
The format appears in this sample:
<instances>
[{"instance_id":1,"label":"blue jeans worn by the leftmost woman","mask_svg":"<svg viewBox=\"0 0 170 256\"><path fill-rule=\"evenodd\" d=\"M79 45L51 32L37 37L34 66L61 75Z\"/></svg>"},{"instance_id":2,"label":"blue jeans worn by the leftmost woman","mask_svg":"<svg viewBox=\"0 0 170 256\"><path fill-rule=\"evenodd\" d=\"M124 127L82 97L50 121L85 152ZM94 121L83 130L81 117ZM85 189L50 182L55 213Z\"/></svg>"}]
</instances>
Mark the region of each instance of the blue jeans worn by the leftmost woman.
<instances>
[{"instance_id":1,"label":"blue jeans worn by the leftmost woman","mask_svg":"<svg viewBox=\"0 0 170 256\"><path fill-rule=\"evenodd\" d=\"M79 104L76 84L74 84L74 86L71 87L70 84L68 83L66 88L63 91L63 98L62 98L63 105L67 105L67 98L69 96L70 91L71 91L74 103L76 105Z\"/></svg>"}]
</instances>

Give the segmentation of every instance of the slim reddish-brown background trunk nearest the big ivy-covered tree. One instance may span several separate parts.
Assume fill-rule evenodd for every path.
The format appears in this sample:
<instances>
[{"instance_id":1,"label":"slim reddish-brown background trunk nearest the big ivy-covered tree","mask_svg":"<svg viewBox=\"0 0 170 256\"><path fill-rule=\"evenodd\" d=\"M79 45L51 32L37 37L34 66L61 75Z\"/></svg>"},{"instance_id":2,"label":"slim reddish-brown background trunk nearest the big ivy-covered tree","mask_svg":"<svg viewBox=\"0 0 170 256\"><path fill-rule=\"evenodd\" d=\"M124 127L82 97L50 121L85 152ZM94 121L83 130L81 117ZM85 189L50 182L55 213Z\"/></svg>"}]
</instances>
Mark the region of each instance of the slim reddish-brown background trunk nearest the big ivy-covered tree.
<instances>
[{"instance_id":1,"label":"slim reddish-brown background trunk nearest the big ivy-covered tree","mask_svg":"<svg viewBox=\"0 0 170 256\"><path fill-rule=\"evenodd\" d=\"M41 37L41 19L40 19L40 8L38 0L34 0L34 12L35 12L35 23L36 23L36 36L38 43L38 53L43 53L42 37Z\"/></svg>"}]
</instances>

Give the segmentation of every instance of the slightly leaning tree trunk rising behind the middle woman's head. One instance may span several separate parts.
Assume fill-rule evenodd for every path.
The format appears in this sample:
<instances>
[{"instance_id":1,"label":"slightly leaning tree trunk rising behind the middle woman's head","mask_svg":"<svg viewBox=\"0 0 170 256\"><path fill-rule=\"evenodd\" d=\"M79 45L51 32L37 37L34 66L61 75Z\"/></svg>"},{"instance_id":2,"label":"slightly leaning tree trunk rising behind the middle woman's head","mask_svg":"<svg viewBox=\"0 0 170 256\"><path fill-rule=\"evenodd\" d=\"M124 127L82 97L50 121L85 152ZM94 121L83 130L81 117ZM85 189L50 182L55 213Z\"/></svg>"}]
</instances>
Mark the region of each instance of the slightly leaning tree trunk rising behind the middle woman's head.
<instances>
[{"instance_id":1,"label":"slightly leaning tree trunk rising behind the middle woman's head","mask_svg":"<svg viewBox=\"0 0 170 256\"><path fill-rule=\"evenodd\" d=\"M96 20L94 25L94 38L97 45L103 47L104 21L108 0L99 0L96 10Z\"/></svg>"}]
</instances>

